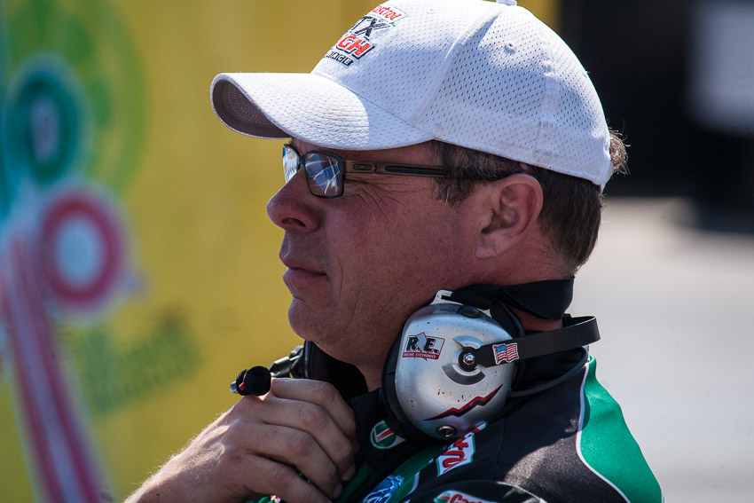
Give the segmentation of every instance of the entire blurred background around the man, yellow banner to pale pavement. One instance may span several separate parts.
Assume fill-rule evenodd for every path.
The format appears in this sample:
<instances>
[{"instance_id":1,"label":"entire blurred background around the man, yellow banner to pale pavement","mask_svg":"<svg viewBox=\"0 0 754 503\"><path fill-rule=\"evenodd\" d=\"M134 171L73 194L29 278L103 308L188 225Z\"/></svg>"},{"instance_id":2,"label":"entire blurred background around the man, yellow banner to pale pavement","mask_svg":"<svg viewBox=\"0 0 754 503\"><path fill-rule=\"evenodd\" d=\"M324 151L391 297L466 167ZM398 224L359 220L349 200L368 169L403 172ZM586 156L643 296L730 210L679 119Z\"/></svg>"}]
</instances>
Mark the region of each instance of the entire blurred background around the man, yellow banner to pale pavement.
<instances>
[{"instance_id":1,"label":"entire blurred background around the man, yellow banner to pale pavement","mask_svg":"<svg viewBox=\"0 0 754 503\"><path fill-rule=\"evenodd\" d=\"M630 146L571 312L668 501L750 501L754 2L522 0ZM0 499L124 499L297 338L281 142L224 71L305 72L374 0L0 0Z\"/></svg>"}]
</instances>

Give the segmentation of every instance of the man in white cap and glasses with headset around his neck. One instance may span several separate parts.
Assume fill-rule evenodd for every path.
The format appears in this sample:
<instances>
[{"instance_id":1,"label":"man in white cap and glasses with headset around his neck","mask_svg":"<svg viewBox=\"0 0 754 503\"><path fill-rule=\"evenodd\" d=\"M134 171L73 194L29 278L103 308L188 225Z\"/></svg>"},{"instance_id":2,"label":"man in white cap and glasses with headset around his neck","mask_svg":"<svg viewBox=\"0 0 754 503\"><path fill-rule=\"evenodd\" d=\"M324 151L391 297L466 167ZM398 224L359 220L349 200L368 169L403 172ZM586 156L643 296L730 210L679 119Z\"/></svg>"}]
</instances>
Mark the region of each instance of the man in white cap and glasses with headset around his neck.
<instances>
[{"instance_id":1,"label":"man in white cap and glasses with headset around his neck","mask_svg":"<svg viewBox=\"0 0 754 503\"><path fill-rule=\"evenodd\" d=\"M557 35L513 0L395 0L311 74L218 75L212 99L292 138L268 214L330 382L273 379L131 501L662 500L580 347L593 319L564 314L625 152Z\"/></svg>"}]
</instances>

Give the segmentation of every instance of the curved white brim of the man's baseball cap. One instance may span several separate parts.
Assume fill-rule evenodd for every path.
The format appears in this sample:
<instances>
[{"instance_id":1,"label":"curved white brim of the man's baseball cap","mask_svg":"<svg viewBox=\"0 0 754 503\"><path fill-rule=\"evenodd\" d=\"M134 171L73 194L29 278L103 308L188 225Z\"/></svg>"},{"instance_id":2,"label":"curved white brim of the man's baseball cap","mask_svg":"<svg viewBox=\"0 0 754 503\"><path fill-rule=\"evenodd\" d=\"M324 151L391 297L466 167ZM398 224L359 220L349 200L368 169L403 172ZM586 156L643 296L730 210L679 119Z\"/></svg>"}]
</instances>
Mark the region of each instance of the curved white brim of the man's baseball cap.
<instances>
[{"instance_id":1,"label":"curved white brim of the man's baseball cap","mask_svg":"<svg viewBox=\"0 0 754 503\"><path fill-rule=\"evenodd\" d=\"M299 138L343 150L395 148L433 138L320 75L220 74L210 95L227 127L254 138Z\"/></svg>"}]
</instances>

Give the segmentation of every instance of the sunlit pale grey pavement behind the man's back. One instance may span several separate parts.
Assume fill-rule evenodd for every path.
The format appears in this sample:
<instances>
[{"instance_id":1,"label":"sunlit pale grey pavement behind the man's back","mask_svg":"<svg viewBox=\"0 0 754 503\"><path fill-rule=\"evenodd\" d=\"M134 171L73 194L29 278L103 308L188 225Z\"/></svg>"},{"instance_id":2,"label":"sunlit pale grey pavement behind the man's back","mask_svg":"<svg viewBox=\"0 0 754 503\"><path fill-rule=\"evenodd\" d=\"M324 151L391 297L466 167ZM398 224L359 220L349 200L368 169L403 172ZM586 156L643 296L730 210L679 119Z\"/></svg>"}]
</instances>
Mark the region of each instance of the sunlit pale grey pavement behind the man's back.
<instances>
[{"instance_id":1,"label":"sunlit pale grey pavement behind the man's back","mask_svg":"<svg viewBox=\"0 0 754 503\"><path fill-rule=\"evenodd\" d=\"M754 236L683 199L609 200L570 312L597 317L597 377L667 502L754 501Z\"/></svg>"}]
</instances>

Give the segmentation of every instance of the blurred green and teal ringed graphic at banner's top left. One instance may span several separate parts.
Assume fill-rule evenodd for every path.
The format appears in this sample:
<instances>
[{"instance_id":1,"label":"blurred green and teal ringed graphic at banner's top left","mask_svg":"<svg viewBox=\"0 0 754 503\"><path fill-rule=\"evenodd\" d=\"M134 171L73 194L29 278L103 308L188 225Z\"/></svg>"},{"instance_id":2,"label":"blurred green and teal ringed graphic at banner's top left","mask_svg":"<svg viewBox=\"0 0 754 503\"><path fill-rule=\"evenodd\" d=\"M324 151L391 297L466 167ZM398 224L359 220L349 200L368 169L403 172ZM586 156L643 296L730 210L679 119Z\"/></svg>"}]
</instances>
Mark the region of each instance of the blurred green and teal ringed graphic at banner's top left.
<instances>
[{"instance_id":1,"label":"blurred green and teal ringed graphic at banner's top left","mask_svg":"<svg viewBox=\"0 0 754 503\"><path fill-rule=\"evenodd\" d=\"M113 7L85 4L75 12L43 1L17 12L6 7L4 102L11 106L2 145L14 145L20 165L13 169L30 169L43 184L77 154L82 175L121 192L145 138L143 77Z\"/></svg>"}]
</instances>

